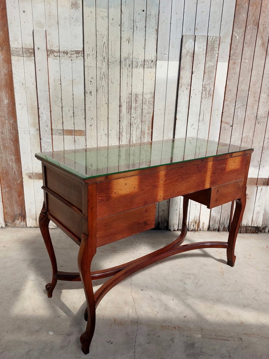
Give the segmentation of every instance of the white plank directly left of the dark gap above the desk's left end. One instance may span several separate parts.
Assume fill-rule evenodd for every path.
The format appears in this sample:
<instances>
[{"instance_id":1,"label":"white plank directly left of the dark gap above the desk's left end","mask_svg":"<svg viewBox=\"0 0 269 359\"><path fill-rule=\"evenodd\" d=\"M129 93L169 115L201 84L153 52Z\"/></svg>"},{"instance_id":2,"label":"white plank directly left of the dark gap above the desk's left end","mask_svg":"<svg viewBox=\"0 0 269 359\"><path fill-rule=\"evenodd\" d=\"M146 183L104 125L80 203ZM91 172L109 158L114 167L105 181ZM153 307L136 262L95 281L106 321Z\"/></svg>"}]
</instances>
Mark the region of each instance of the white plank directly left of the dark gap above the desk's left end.
<instances>
[{"instance_id":1,"label":"white plank directly left of the dark gap above the desk's left end","mask_svg":"<svg viewBox=\"0 0 269 359\"><path fill-rule=\"evenodd\" d=\"M81 0L72 0L70 2L70 30L75 148L85 148L85 98Z\"/></svg>"}]
</instances>

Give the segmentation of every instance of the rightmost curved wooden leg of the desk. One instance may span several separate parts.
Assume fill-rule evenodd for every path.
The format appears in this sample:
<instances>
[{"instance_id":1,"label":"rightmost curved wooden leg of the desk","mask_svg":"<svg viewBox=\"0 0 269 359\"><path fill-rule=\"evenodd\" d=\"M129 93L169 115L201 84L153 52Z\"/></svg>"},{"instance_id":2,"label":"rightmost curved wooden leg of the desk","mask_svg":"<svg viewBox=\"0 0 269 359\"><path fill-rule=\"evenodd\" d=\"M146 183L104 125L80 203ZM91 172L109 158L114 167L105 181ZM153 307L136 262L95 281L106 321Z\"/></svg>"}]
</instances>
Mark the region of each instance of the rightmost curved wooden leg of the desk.
<instances>
[{"instance_id":1,"label":"rightmost curved wooden leg of the desk","mask_svg":"<svg viewBox=\"0 0 269 359\"><path fill-rule=\"evenodd\" d=\"M235 242L237 233L242 221L243 213L246 206L246 192L242 195L241 199L235 201L235 213L232 218L232 224L229 231L228 237L228 248L227 248L227 264L231 267L235 265Z\"/></svg>"}]
</instances>

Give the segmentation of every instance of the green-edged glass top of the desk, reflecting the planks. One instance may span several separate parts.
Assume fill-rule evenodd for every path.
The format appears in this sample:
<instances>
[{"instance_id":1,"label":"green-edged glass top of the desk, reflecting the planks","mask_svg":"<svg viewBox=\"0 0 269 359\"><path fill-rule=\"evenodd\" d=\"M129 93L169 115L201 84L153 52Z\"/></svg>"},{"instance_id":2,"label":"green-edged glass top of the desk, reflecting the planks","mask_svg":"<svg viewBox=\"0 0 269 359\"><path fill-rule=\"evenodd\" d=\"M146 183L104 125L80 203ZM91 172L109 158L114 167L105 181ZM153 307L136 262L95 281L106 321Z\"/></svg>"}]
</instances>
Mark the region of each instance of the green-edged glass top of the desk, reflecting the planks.
<instances>
[{"instance_id":1,"label":"green-edged glass top of the desk, reflecting the planks","mask_svg":"<svg viewBox=\"0 0 269 359\"><path fill-rule=\"evenodd\" d=\"M251 148L184 137L128 145L37 153L36 157L86 179L249 149Z\"/></svg>"}]
</instances>

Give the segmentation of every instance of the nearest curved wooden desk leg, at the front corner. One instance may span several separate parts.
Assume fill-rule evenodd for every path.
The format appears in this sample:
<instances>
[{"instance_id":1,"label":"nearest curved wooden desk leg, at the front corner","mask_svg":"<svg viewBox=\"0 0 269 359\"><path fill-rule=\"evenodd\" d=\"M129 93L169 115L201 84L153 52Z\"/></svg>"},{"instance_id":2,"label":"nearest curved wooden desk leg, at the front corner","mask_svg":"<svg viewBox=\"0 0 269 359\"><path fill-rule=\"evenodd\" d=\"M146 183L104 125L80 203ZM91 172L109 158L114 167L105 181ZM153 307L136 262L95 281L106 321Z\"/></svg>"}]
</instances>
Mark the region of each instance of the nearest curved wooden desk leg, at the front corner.
<instances>
[{"instance_id":1,"label":"nearest curved wooden desk leg, at the front corner","mask_svg":"<svg viewBox=\"0 0 269 359\"><path fill-rule=\"evenodd\" d=\"M80 278L87 302L87 326L85 332L80 336L81 349L84 354L89 353L91 339L93 338L95 329L95 301L90 266L96 253L96 248L94 248L92 243L93 241L90 241L90 239L82 234L79 254L77 257L77 265L79 267Z\"/></svg>"}]
</instances>

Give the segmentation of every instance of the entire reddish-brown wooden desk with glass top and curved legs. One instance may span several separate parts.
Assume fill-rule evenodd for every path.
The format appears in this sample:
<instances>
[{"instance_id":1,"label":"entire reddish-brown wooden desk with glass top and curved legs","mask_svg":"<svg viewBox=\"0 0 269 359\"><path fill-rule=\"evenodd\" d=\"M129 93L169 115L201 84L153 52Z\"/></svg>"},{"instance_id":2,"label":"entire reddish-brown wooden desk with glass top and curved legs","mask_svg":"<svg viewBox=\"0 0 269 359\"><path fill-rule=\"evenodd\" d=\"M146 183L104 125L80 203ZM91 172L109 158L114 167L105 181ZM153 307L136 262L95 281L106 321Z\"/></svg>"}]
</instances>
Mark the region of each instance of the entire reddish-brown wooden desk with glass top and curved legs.
<instances>
[{"instance_id":1,"label":"entire reddish-brown wooden desk with glass top and curved legs","mask_svg":"<svg viewBox=\"0 0 269 359\"><path fill-rule=\"evenodd\" d=\"M82 281L87 308L82 351L89 353L95 309L104 295L136 271L177 253L226 248L235 264L235 241L246 204L246 181L253 149L192 137L151 143L39 153L44 204L39 225L52 264L52 296L57 280ZM96 248L155 226L156 202L184 196L180 236L168 246L122 265L90 271ZM227 242L180 245L187 234L188 201L213 208L236 202ZM48 224L52 220L79 246L79 273L61 272ZM92 280L111 277L95 293Z\"/></svg>"}]
</instances>

